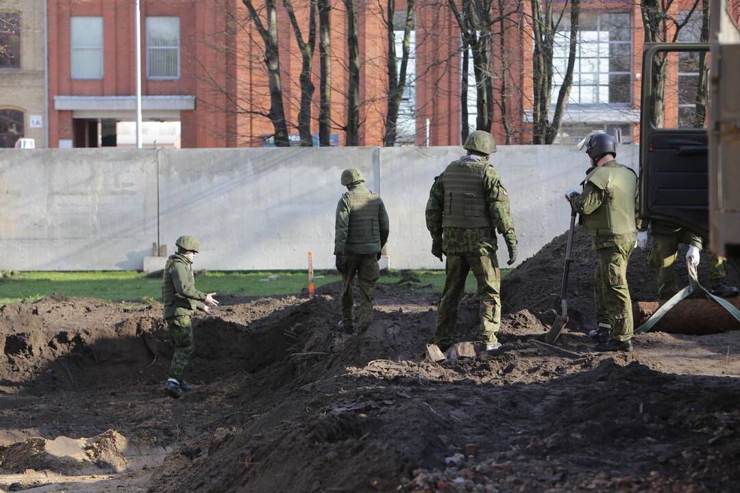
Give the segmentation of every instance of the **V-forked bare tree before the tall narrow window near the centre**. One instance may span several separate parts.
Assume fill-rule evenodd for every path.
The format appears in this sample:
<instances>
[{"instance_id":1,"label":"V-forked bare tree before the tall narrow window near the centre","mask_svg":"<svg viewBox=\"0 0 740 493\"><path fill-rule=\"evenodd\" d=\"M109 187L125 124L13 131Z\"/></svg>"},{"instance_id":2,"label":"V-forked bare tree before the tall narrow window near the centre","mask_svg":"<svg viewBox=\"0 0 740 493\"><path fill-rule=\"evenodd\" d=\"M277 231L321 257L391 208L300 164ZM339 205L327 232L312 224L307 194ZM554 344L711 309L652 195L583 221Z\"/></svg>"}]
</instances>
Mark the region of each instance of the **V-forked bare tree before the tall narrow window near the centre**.
<instances>
[{"instance_id":1,"label":"V-forked bare tree before the tall narrow window near the centre","mask_svg":"<svg viewBox=\"0 0 740 493\"><path fill-rule=\"evenodd\" d=\"M383 145L392 147L396 143L398 126L398 109L401 106L403 91L406 90L406 71L408 69L408 56L411 52L411 30L414 29L414 5L416 0L406 2L406 22L403 24L403 41L401 44L401 64L398 66L396 55L396 37L394 30L394 17L396 12L396 0L387 0L386 24L388 38L388 104L386 106L386 132L383 136Z\"/></svg>"}]
</instances>

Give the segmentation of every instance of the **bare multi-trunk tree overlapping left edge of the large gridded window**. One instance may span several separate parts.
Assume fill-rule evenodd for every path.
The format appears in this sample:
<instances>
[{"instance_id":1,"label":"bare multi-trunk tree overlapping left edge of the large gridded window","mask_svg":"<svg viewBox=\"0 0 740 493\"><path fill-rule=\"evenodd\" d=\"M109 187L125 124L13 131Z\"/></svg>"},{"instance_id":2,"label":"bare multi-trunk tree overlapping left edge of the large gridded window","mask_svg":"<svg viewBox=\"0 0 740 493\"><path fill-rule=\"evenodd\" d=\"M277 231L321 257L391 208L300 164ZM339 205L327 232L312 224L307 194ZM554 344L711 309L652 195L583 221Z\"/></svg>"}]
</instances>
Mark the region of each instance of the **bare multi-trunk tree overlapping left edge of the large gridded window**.
<instances>
[{"instance_id":1,"label":"bare multi-trunk tree overlapping left edge of the large gridded window","mask_svg":"<svg viewBox=\"0 0 740 493\"><path fill-rule=\"evenodd\" d=\"M550 120L551 92L553 87L553 52L556 44L556 33L565 13L565 4L554 17L553 0L531 0L532 34L534 36L534 54L532 55L532 133L533 143L551 144L560 131L562 115L568 105L568 96L573 86L573 67L576 63L578 43L578 18L581 10L580 0L571 1L571 29L568 44L568 65L563 74L563 81L555 103L555 110ZM565 2L566 4L568 1Z\"/></svg>"}]
</instances>

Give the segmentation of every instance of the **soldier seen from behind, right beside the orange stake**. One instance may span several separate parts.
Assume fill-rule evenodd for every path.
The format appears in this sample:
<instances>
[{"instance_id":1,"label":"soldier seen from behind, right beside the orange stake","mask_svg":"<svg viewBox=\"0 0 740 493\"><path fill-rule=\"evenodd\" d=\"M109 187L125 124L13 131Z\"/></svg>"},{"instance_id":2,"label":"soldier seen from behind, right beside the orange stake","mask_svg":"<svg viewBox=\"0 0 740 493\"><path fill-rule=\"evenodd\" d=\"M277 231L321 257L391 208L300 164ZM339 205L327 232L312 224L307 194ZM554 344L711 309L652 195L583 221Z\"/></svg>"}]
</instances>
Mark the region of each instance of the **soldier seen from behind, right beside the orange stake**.
<instances>
[{"instance_id":1,"label":"soldier seen from behind, right beside the orange stake","mask_svg":"<svg viewBox=\"0 0 740 493\"><path fill-rule=\"evenodd\" d=\"M378 194L365 186L362 171L357 168L342 172L342 185L347 187L337 203L334 225L334 256L337 271L342 274L342 320L339 327L346 333L354 330L354 275L360 285L360 330L372 322L372 299L375 282L380 277L377 261L388 241L388 214Z\"/></svg>"}]
</instances>

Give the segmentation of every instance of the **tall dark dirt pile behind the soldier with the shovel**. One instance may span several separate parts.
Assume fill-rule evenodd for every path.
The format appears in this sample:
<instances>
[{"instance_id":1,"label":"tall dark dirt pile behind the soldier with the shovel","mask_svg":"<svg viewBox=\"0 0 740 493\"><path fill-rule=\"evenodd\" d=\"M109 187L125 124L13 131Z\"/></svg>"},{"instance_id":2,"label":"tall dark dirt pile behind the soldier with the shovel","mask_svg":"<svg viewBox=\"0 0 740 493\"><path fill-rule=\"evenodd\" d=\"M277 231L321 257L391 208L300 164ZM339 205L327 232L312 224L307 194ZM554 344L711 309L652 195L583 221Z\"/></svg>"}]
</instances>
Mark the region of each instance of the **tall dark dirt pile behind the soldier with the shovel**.
<instances>
[{"instance_id":1,"label":"tall dark dirt pile behind the soldier with the shovel","mask_svg":"<svg viewBox=\"0 0 740 493\"><path fill-rule=\"evenodd\" d=\"M542 247L534 256L526 259L501 281L501 299L503 313L514 313L519 310L530 310L540 321L547 325L554 322L560 313L560 286L565 248L568 234L555 237ZM676 272L679 287L687 285L685 262L682 262L686 247L679 248ZM591 328L596 324L596 311L593 301L594 271L598 263L593 251L591 237L583 228L576 226L573 234L572 262L568 277L568 327L576 329ZM699 265L699 282L709 286L709 268L706 255L702 254ZM728 280L739 285L740 276L732 266L727 268ZM647 250L636 248L630 258L627 270L627 282L633 302L656 301L658 285L655 273L647 262Z\"/></svg>"}]
</instances>

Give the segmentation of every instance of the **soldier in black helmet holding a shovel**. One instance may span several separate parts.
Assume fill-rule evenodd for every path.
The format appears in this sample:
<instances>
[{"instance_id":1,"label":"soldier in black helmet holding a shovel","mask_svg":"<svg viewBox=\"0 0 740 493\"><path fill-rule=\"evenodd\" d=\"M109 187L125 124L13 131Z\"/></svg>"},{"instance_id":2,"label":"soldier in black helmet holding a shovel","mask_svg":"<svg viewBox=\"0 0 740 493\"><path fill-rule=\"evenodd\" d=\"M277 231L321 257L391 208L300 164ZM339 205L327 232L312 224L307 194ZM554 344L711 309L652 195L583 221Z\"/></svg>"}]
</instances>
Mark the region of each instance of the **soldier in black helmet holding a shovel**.
<instances>
[{"instance_id":1,"label":"soldier in black helmet holding a shovel","mask_svg":"<svg viewBox=\"0 0 740 493\"><path fill-rule=\"evenodd\" d=\"M581 214L582 225L599 255L594 291L598 327L589 335L599 351L632 350L632 301L627 264L637 239L637 175L617 163L616 142L607 134L588 137L591 168L583 191L565 198Z\"/></svg>"}]
</instances>

